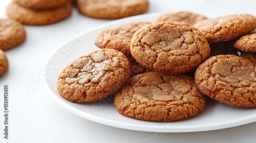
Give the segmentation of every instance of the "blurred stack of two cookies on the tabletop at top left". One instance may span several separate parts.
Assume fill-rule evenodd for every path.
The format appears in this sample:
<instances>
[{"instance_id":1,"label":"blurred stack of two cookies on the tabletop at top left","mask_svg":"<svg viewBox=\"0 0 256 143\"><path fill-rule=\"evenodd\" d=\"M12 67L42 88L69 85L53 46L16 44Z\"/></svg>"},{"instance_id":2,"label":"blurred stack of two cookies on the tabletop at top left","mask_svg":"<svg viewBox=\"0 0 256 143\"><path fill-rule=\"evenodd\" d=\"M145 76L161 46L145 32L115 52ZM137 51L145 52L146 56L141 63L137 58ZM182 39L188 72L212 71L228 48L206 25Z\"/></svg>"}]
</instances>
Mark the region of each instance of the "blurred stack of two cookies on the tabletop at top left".
<instances>
[{"instance_id":1,"label":"blurred stack of two cookies on the tabletop at top left","mask_svg":"<svg viewBox=\"0 0 256 143\"><path fill-rule=\"evenodd\" d=\"M7 7L7 16L27 25L46 25L68 18L72 12L71 0L13 0Z\"/></svg>"}]
</instances>

